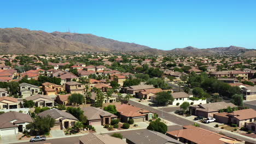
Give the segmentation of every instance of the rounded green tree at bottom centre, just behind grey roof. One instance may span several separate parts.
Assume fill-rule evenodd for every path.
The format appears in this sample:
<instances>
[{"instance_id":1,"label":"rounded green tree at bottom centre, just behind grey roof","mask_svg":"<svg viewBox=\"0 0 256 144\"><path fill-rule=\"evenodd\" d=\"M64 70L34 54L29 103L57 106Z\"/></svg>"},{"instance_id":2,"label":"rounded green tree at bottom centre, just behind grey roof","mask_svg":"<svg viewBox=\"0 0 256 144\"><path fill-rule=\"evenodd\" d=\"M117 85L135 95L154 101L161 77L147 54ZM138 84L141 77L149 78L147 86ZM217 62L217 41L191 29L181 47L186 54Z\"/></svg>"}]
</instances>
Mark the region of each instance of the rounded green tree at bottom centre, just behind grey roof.
<instances>
[{"instance_id":1,"label":"rounded green tree at bottom centre, just behind grey roof","mask_svg":"<svg viewBox=\"0 0 256 144\"><path fill-rule=\"evenodd\" d=\"M167 131L167 125L160 121L152 121L149 123L147 129L158 131L159 133L165 134Z\"/></svg>"}]
</instances>

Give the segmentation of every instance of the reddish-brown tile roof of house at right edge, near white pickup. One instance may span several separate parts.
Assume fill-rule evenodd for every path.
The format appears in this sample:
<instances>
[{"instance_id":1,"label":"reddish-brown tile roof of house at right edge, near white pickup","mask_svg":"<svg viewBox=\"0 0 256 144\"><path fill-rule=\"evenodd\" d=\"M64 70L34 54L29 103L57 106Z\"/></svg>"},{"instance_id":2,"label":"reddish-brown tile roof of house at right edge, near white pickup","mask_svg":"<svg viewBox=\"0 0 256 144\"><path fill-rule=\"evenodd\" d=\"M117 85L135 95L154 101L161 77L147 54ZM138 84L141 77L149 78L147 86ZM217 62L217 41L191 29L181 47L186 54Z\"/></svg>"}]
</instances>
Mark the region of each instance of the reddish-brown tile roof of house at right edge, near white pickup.
<instances>
[{"instance_id":1,"label":"reddish-brown tile roof of house at right edge, near white pickup","mask_svg":"<svg viewBox=\"0 0 256 144\"><path fill-rule=\"evenodd\" d=\"M238 110L228 113L228 116L236 117L241 121L245 119L256 118L256 111L253 109Z\"/></svg>"}]
</instances>

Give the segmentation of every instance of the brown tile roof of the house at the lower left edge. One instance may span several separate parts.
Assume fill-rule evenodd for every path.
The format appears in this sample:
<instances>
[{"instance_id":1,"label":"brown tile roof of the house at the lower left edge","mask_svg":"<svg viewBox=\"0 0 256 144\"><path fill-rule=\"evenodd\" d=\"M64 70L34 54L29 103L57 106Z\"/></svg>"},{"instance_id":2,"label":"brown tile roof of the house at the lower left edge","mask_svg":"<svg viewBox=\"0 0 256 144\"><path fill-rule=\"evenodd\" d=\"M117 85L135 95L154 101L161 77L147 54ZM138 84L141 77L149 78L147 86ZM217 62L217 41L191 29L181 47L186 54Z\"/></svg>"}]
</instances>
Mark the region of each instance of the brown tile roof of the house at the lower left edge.
<instances>
[{"instance_id":1,"label":"brown tile roof of the house at the lower left edge","mask_svg":"<svg viewBox=\"0 0 256 144\"><path fill-rule=\"evenodd\" d=\"M13 128L18 127L18 125L14 125L14 123L30 123L33 122L33 119L30 117L30 115L27 115L25 113L20 112L6 112L0 115L1 123L0 128ZM16 121L14 121L16 119ZM11 121L14 121L11 123Z\"/></svg>"}]
</instances>

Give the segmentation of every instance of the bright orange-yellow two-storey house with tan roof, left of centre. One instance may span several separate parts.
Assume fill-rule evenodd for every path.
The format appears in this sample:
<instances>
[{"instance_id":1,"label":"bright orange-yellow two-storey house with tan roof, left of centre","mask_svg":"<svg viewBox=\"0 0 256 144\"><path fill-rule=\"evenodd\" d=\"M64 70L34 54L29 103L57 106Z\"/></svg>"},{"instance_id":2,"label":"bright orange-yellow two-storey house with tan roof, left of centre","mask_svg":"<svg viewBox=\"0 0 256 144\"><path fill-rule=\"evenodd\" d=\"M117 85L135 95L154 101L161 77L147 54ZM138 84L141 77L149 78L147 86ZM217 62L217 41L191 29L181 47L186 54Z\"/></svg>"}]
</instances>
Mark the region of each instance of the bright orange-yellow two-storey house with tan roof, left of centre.
<instances>
[{"instance_id":1,"label":"bright orange-yellow two-storey house with tan roof, left of centre","mask_svg":"<svg viewBox=\"0 0 256 144\"><path fill-rule=\"evenodd\" d=\"M57 95L57 93L63 91L62 86L56 85L54 83L44 82L42 85L44 95Z\"/></svg>"}]
</instances>

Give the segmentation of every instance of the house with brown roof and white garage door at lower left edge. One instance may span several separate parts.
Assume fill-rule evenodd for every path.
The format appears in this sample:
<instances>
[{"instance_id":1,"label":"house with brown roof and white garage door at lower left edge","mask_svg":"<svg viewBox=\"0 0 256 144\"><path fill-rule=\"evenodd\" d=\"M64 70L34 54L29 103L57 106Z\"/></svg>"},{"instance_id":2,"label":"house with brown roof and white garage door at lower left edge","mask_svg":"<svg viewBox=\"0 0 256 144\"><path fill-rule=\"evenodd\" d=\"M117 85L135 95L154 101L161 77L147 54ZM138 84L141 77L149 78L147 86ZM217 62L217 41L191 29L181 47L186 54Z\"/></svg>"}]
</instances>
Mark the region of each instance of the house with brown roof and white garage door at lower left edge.
<instances>
[{"instance_id":1,"label":"house with brown roof and white garage door at lower left edge","mask_svg":"<svg viewBox=\"0 0 256 144\"><path fill-rule=\"evenodd\" d=\"M30 115L21 112L6 112L0 115L0 136L15 135L26 130L26 125L33 122Z\"/></svg>"}]
</instances>

